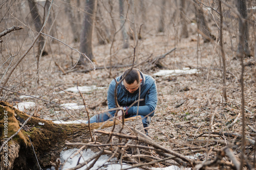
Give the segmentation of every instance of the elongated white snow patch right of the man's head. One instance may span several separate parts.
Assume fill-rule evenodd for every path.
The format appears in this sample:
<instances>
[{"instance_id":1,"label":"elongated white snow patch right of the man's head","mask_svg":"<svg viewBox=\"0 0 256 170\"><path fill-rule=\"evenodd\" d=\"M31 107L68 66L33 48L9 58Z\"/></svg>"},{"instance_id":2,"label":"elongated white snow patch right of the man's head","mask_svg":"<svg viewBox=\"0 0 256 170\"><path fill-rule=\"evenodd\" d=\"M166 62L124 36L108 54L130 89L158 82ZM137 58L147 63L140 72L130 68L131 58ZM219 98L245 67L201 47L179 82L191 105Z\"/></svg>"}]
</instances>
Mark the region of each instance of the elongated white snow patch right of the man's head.
<instances>
[{"instance_id":1,"label":"elongated white snow patch right of the man's head","mask_svg":"<svg viewBox=\"0 0 256 170\"><path fill-rule=\"evenodd\" d=\"M154 76L176 76L176 75L191 75L191 74L197 74L199 73L199 70L194 68L190 69L188 67L185 67L183 69L160 69L158 72L154 73Z\"/></svg>"}]
</instances>

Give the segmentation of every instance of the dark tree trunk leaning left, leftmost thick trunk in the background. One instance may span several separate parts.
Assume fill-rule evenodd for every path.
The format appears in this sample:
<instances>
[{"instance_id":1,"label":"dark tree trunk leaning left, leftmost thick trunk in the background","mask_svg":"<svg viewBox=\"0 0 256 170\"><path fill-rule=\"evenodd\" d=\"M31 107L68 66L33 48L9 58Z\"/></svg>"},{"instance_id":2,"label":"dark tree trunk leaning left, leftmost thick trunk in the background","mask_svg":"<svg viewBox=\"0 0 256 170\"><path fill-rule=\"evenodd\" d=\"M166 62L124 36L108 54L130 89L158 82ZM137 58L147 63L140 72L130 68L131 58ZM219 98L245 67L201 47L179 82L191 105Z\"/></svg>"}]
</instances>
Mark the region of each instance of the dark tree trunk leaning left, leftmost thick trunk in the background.
<instances>
[{"instance_id":1,"label":"dark tree trunk leaning left, leftmost thick trunk in the background","mask_svg":"<svg viewBox=\"0 0 256 170\"><path fill-rule=\"evenodd\" d=\"M42 27L42 22L40 19L38 9L36 7L36 3L34 0L28 0L28 3L29 3L30 13L31 13L31 16L32 16L32 19L34 22L35 29L39 33L41 30L41 27ZM44 38L42 36L40 36L38 38L38 41L39 41L39 43L38 43L38 57L39 57L42 47L44 46L45 42L44 42ZM43 53L43 55L45 55L45 54Z\"/></svg>"}]
</instances>

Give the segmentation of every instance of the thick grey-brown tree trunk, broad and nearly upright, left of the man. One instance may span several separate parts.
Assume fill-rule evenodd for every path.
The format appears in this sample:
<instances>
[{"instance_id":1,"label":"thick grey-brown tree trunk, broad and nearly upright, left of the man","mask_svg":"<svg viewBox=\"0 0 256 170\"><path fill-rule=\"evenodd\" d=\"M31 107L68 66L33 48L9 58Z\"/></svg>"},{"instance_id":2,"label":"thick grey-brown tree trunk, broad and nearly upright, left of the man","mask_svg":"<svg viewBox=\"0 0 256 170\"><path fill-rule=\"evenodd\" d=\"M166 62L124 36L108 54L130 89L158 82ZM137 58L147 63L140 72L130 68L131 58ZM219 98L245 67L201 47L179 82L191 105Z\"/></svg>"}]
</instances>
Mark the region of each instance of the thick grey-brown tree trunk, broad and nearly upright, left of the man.
<instances>
[{"instance_id":1,"label":"thick grey-brown tree trunk, broad and nearly upright, left of the man","mask_svg":"<svg viewBox=\"0 0 256 170\"><path fill-rule=\"evenodd\" d=\"M84 18L81 29L80 36L80 52L85 53L87 57L92 60L93 59L93 50L92 50L92 35L93 35L93 25L94 25L94 13L95 6L97 1L87 0L86 6L84 10ZM84 61L84 57L80 55L79 61L82 65L87 65L88 62Z\"/></svg>"}]
</instances>

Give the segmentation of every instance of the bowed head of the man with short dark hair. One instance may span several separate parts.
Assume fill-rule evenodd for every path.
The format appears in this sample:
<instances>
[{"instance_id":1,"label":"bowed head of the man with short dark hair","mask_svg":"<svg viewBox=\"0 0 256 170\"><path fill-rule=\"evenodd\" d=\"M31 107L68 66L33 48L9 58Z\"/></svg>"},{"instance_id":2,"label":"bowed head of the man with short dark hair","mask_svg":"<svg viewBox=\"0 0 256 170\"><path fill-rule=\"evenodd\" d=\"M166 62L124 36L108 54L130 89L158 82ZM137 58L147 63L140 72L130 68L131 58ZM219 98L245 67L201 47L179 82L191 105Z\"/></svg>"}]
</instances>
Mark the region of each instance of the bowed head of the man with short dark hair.
<instances>
[{"instance_id":1,"label":"bowed head of the man with short dark hair","mask_svg":"<svg viewBox=\"0 0 256 170\"><path fill-rule=\"evenodd\" d=\"M140 72L136 68L127 69L124 71L124 80L123 85L130 93L134 93L140 86L140 83L142 81L142 78L140 77Z\"/></svg>"}]
</instances>

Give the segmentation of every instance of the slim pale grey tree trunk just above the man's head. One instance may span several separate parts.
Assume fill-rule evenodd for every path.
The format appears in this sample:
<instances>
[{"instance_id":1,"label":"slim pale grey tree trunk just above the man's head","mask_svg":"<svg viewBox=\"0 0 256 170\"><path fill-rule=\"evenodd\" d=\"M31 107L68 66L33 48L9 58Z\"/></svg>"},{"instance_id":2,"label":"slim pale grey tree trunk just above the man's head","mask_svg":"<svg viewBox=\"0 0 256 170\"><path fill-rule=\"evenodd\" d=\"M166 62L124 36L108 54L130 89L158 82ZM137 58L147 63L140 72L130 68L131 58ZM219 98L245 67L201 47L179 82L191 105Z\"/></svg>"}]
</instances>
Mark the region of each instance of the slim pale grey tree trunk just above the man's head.
<instances>
[{"instance_id":1,"label":"slim pale grey tree trunk just above the man's head","mask_svg":"<svg viewBox=\"0 0 256 170\"><path fill-rule=\"evenodd\" d=\"M122 30L122 37L123 37L123 48L129 47L129 37L127 35L127 31L125 28L125 20L124 20L124 13L123 13L123 2L124 0L119 0L119 14L120 14L120 23L121 23L121 30Z\"/></svg>"}]
</instances>

